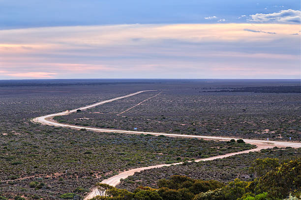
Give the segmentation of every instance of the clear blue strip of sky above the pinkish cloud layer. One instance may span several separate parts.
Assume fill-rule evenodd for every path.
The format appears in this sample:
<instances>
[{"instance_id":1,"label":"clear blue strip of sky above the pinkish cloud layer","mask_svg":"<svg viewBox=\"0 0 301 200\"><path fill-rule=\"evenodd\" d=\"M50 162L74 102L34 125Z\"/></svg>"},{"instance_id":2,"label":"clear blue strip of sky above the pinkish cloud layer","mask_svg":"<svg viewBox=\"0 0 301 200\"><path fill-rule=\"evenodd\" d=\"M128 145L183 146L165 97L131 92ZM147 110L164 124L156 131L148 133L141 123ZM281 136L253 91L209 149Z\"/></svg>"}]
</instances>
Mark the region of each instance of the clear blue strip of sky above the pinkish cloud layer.
<instances>
[{"instance_id":1,"label":"clear blue strip of sky above the pinkish cloud layer","mask_svg":"<svg viewBox=\"0 0 301 200\"><path fill-rule=\"evenodd\" d=\"M0 28L245 23L249 15L300 10L299 0L0 0ZM241 17L246 15L246 17ZM206 17L216 16L211 20ZM239 19L240 18L240 19Z\"/></svg>"}]
</instances>

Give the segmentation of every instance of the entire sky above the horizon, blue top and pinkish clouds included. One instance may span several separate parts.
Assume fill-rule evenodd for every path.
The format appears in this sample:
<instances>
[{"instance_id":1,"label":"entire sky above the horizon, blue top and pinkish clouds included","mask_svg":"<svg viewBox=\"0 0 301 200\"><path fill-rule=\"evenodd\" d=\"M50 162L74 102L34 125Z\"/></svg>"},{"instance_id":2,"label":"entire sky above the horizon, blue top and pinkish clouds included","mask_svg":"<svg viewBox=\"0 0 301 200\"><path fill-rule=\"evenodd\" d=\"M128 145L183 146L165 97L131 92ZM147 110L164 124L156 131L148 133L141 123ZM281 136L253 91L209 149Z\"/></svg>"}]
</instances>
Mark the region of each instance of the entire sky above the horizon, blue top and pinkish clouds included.
<instances>
[{"instance_id":1,"label":"entire sky above the horizon, blue top and pinkish clouds included","mask_svg":"<svg viewBox=\"0 0 301 200\"><path fill-rule=\"evenodd\" d=\"M0 79L301 78L300 0L0 0Z\"/></svg>"}]
</instances>

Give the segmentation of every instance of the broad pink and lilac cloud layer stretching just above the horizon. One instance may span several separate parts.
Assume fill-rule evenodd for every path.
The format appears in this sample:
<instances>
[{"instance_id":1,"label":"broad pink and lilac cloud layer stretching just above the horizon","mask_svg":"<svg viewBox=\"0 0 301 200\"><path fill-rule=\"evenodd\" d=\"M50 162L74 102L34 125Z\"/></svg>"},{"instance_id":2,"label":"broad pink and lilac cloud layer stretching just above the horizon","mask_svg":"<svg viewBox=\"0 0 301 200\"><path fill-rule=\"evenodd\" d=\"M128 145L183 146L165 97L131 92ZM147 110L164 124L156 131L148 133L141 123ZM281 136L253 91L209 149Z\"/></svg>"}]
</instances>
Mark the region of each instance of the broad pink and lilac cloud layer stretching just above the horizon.
<instances>
[{"instance_id":1,"label":"broad pink and lilac cloud layer stretching just above the horizon","mask_svg":"<svg viewBox=\"0 0 301 200\"><path fill-rule=\"evenodd\" d=\"M299 31L283 24L0 30L0 79L300 78L301 42L292 35Z\"/></svg>"}]
</instances>

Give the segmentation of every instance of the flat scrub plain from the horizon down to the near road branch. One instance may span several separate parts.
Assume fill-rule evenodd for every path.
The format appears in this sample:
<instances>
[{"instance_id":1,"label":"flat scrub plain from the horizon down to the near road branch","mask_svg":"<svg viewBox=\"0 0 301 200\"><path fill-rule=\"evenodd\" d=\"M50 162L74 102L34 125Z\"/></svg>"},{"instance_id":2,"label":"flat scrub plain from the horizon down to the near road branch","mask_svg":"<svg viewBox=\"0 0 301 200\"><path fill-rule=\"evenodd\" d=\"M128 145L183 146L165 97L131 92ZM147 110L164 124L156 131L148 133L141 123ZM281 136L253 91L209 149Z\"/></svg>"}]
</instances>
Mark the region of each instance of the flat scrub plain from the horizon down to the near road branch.
<instances>
[{"instance_id":1,"label":"flat scrub plain from the horizon down to the near road branch","mask_svg":"<svg viewBox=\"0 0 301 200\"><path fill-rule=\"evenodd\" d=\"M220 92L238 86L296 85L300 87L296 80L0 81L0 196L61 199L66 192L90 189L122 170L254 148L244 143L74 130L35 124L32 118L140 90L162 90L55 120L87 127L300 141L300 93ZM300 156L299 150L285 152L286 158ZM237 165L233 163L229 165ZM202 172L214 177L212 170ZM231 178L220 179L241 176L232 173ZM149 185L146 179L141 181Z\"/></svg>"}]
</instances>

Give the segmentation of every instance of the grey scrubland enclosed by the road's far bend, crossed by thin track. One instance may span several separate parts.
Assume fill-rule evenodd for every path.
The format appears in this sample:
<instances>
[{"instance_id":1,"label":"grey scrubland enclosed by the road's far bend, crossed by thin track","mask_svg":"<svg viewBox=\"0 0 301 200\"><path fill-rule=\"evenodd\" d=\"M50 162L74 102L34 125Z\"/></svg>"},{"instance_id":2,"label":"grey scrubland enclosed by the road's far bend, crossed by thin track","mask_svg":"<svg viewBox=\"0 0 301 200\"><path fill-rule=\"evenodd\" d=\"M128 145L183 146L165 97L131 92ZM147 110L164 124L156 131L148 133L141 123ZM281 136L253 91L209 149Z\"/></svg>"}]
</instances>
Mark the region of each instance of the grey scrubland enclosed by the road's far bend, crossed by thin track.
<instances>
[{"instance_id":1,"label":"grey scrubland enclosed by the road's far bend, crossed by thin track","mask_svg":"<svg viewBox=\"0 0 301 200\"><path fill-rule=\"evenodd\" d=\"M61 123L177 134L301 141L301 100L294 93L147 92L56 117Z\"/></svg>"}]
</instances>

